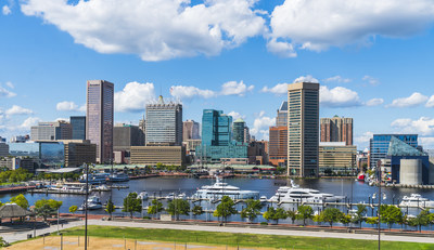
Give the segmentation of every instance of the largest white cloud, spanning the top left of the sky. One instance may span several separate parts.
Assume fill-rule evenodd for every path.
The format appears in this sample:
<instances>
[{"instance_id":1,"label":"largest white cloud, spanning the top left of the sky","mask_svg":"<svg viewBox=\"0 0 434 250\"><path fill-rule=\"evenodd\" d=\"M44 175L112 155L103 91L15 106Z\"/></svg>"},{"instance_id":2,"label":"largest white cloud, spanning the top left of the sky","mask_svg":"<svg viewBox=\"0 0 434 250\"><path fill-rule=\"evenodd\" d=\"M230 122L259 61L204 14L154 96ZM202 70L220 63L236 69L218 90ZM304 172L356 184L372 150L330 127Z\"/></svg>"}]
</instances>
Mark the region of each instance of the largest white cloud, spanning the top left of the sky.
<instances>
[{"instance_id":1,"label":"largest white cloud, spanning the top left of the sky","mask_svg":"<svg viewBox=\"0 0 434 250\"><path fill-rule=\"evenodd\" d=\"M24 14L68 32L100 53L138 54L143 61L217 55L266 31L255 0L27 0Z\"/></svg>"}]
</instances>

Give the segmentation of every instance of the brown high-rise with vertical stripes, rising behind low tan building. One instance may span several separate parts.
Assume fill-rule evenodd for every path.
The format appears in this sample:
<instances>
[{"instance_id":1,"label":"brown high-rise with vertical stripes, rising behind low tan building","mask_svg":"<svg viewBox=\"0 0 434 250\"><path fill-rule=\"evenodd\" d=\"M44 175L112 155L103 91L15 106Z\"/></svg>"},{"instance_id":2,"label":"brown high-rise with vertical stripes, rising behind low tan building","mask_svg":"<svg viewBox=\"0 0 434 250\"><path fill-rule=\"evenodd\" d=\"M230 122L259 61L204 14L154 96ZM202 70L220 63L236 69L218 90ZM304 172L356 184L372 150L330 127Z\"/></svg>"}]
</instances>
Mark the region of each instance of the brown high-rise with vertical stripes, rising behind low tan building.
<instances>
[{"instance_id":1,"label":"brown high-rise with vertical stripes, rising behind low tan building","mask_svg":"<svg viewBox=\"0 0 434 250\"><path fill-rule=\"evenodd\" d=\"M320 128L321 142L345 142L345 145L353 145L353 118L321 118Z\"/></svg>"}]
</instances>

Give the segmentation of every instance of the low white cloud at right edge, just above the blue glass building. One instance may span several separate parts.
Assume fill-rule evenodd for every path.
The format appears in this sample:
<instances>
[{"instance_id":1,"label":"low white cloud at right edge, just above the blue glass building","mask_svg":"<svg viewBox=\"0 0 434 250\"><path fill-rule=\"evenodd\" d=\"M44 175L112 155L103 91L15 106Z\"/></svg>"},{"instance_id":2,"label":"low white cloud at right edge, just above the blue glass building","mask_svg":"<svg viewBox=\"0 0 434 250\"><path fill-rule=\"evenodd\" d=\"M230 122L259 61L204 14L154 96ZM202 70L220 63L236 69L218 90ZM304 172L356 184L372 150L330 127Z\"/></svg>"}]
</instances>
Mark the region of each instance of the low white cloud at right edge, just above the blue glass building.
<instances>
[{"instance_id":1,"label":"low white cloud at right edge, just above the blue glass building","mask_svg":"<svg viewBox=\"0 0 434 250\"><path fill-rule=\"evenodd\" d=\"M434 135L434 119L421 117L418 120L399 118L394 120L391 126L401 133L418 133L422 135Z\"/></svg>"}]
</instances>

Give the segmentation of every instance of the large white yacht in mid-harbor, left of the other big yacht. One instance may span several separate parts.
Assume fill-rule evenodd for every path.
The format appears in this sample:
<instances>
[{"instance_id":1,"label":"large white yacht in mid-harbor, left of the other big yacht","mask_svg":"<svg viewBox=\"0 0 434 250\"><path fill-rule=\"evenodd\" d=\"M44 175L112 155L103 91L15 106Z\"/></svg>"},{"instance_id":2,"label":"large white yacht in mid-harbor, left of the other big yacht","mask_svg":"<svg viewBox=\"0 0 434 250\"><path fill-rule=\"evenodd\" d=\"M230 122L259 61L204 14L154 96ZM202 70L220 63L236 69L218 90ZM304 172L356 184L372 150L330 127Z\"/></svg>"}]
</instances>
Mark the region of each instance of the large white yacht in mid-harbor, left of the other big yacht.
<instances>
[{"instance_id":1,"label":"large white yacht in mid-harbor, left of the other big yacht","mask_svg":"<svg viewBox=\"0 0 434 250\"><path fill-rule=\"evenodd\" d=\"M216 176L216 183L202 186L192 198L217 200L221 199L224 196L229 196L231 199L258 199L259 192L241 190L240 187L228 185L228 183L221 182L220 179Z\"/></svg>"}]
</instances>

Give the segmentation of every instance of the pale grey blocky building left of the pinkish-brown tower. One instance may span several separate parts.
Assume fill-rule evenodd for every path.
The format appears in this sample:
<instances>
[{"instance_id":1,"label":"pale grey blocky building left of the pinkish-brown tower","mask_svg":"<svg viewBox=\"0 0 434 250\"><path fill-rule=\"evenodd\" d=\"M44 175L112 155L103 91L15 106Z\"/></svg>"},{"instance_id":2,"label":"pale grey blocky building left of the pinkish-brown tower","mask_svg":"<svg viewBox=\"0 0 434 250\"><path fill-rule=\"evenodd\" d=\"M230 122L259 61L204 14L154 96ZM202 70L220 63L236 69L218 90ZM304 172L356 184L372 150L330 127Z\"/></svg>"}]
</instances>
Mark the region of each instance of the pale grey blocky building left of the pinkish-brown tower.
<instances>
[{"instance_id":1,"label":"pale grey blocky building left of the pinkish-brown tower","mask_svg":"<svg viewBox=\"0 0 434 250\"><path fill-rule=\"evenodd\" d=\"M30 128L33 141L40 140L71 140L73 128L69 122L64 120L39 122L38 126Z\"/></svg>"}]
</instances>

